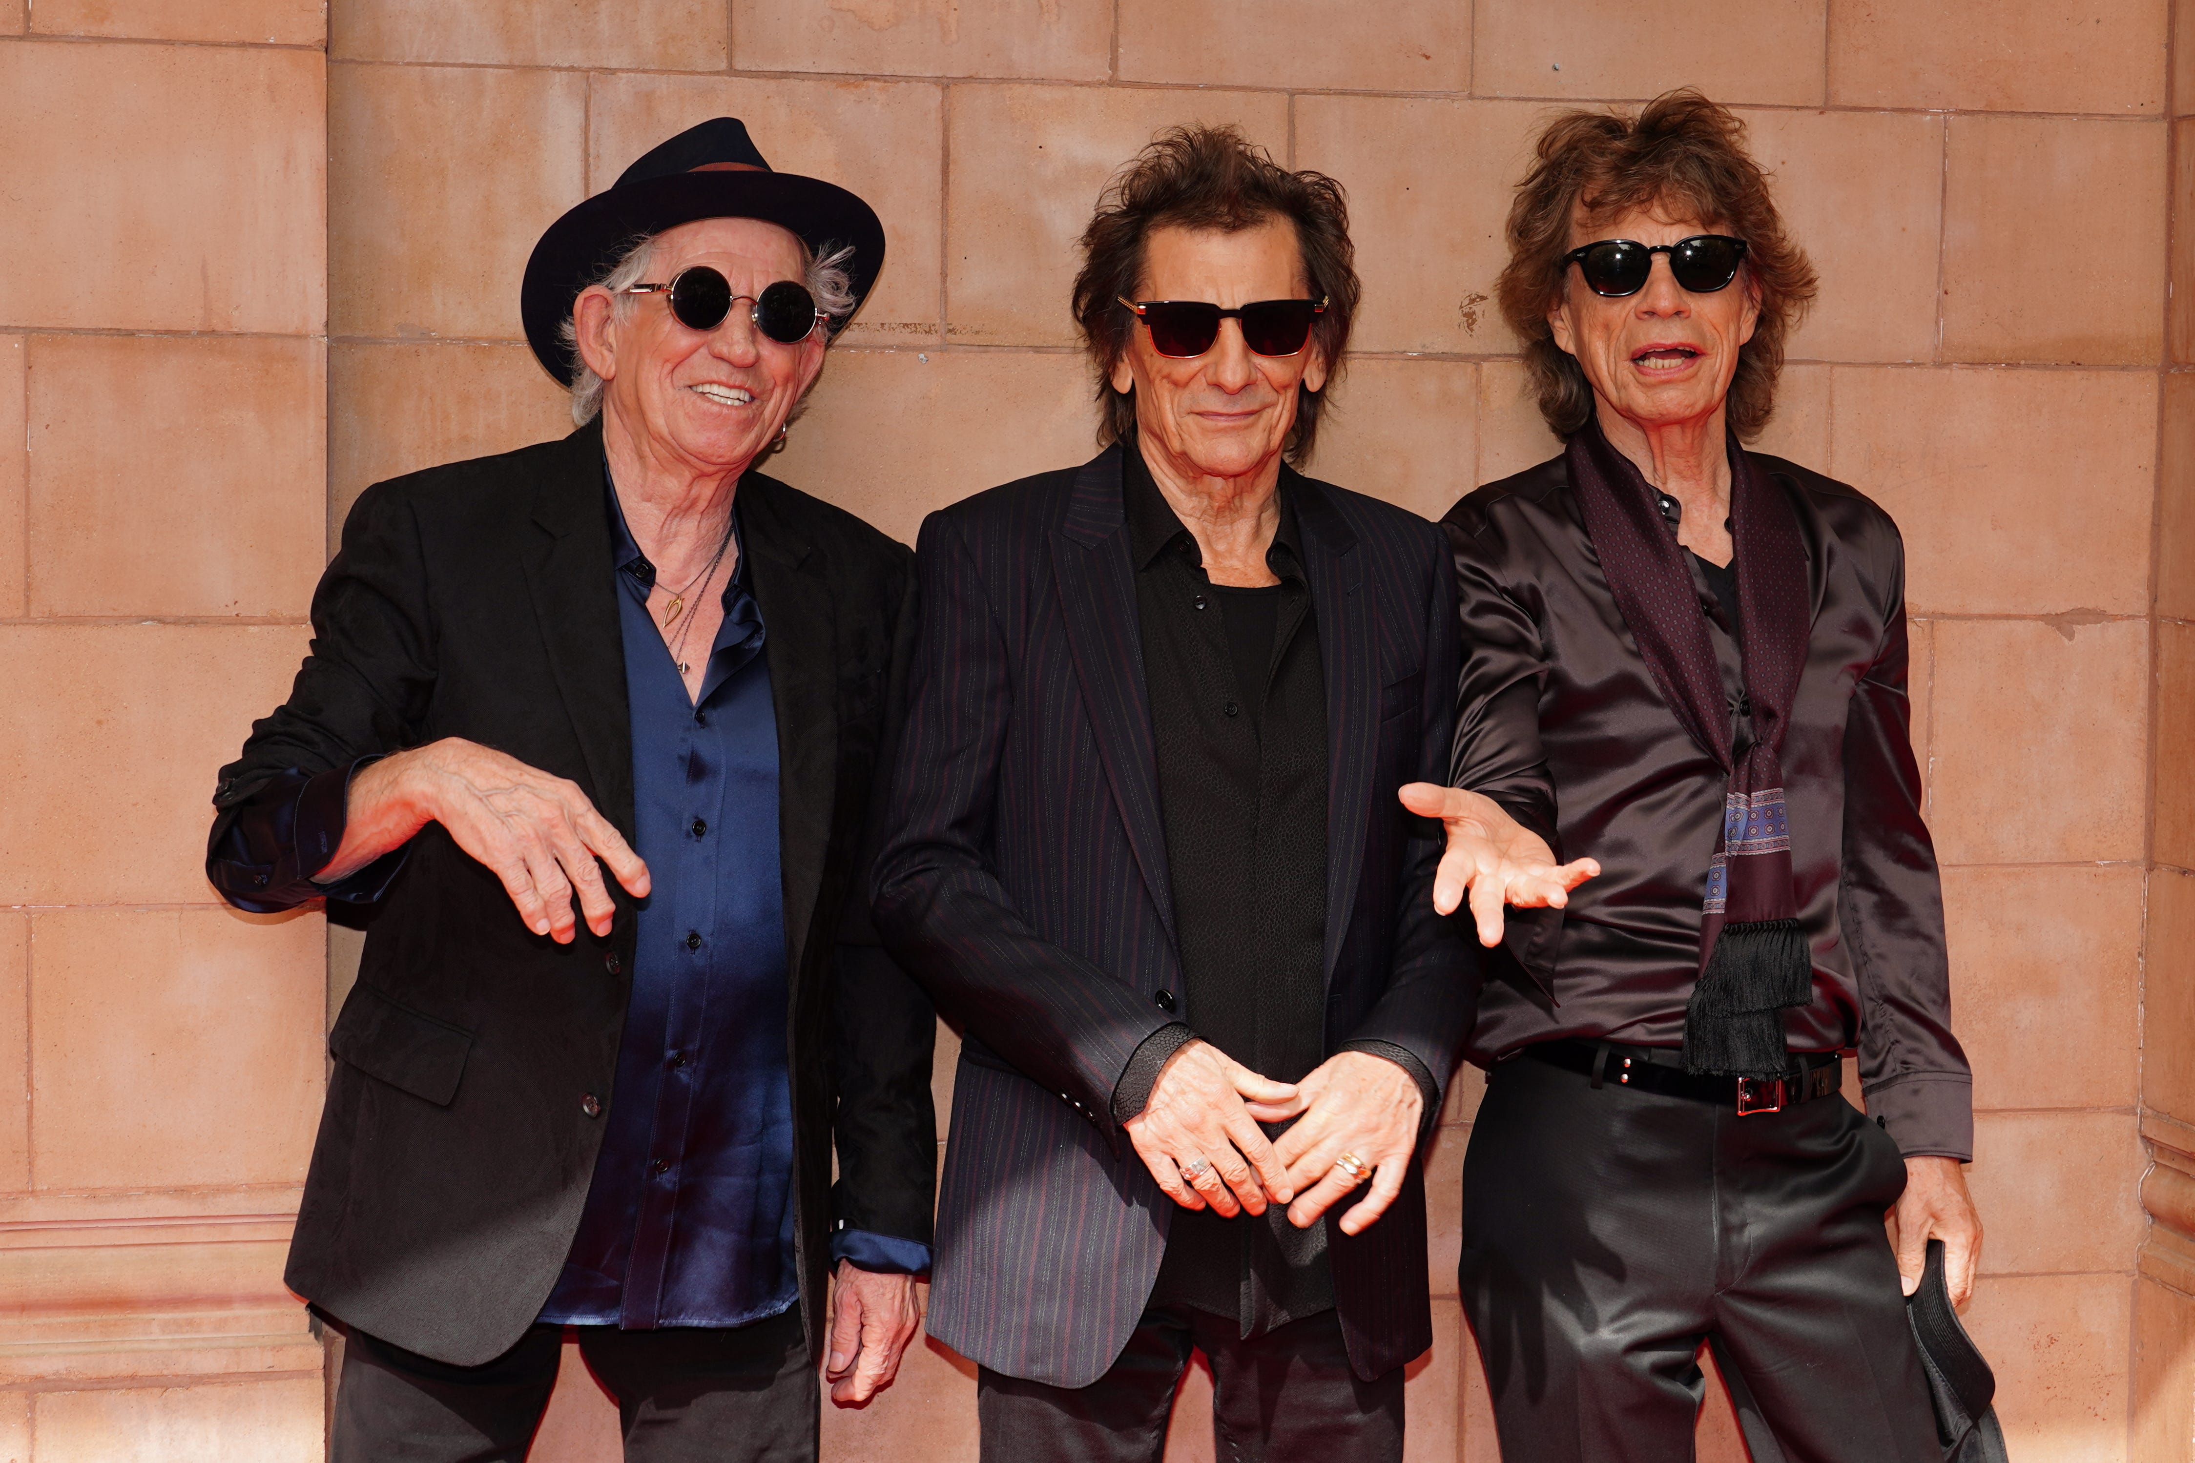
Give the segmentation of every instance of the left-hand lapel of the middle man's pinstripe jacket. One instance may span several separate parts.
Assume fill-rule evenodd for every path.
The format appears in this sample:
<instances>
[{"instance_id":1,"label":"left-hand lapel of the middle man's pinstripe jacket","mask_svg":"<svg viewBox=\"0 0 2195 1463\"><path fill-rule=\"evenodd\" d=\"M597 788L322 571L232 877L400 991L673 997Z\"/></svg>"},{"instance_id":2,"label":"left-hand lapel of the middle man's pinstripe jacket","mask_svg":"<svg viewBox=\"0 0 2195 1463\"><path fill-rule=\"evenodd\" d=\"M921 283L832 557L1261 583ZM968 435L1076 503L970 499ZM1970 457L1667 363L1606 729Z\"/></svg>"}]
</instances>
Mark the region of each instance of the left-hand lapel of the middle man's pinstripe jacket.
<instances>
[{"instance_id":1,"label":"left-hand lapel of the middle man's pinstripe jacket","mask_svg":"<svg viewBox=\"0 0 2195 1463\"><path fill-rule=\"evenodd\" d=\"M1144 643L1135 610L1135 566L1122 509L1122 447L1082 465L1065 522L1051 531L1051 575L1060 586L1067 645L1091 713L1098 757L1128 829L1144 886L1166 934L1174 934L1174 886L1159 818L1159 759L1150 737Z\"/></svg>"}]
</instances>

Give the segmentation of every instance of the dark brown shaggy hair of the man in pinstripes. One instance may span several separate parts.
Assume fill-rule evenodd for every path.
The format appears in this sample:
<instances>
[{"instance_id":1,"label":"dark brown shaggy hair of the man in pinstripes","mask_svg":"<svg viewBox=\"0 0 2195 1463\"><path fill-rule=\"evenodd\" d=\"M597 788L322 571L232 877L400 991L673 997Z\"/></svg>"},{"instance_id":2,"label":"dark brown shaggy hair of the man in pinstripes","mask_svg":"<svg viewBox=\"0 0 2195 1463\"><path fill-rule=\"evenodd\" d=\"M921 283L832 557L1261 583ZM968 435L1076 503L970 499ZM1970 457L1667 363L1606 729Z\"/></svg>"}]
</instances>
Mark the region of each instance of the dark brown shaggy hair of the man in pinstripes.
<instances>
[{"instance_id":1,"label":"dark brown shaggy hair of the man in pinstripes","mask_svg":"<svg viewBox=\"0 0 2195 1463\"><path fill-rule=\"evenodd\" d=\"M1357 320L1357 248L1350 243L1350 206L1341 184L1326 173L1291 173L1238 127L1170 127L1135 156L1098 200L1098 215L1082 230L1082 272L1076 274L1073 311L1098 364L1098 441L1113 443L1135 428L1135 397L1113 388L1113 366L1135 331L1135 316L1119 296L1135 298L1144 283L1144 246L1155 228L1238 233L1269 219L1295 226L1295 246L1310 283L1310 298L1326 296L1313 340L1326 360L1326 386L1341 377L1341 351ZM1286 456L1302 463L1319 434L1324 390L1297 386L1295 426Z\"/></svg>"}]
</instances>

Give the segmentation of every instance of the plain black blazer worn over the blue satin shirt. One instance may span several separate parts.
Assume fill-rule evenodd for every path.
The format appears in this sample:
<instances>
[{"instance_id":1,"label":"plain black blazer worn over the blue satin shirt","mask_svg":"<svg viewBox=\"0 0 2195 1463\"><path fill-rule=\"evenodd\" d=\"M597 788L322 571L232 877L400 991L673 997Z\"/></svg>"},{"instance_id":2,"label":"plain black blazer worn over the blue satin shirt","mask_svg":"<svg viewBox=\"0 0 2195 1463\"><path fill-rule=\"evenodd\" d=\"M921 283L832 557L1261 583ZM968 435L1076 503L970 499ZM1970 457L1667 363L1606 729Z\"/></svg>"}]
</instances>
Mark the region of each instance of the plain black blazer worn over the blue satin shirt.
<instances>
[{"instance_id":1,"label":"plain black blazer worn over the blue satin shirt","mask_svg":"<svg viewBox=\"0 0 2195 1463\"><path fill-rule=\"evenodd\" d=\"M935 1018L876 945L871 772L915 634L913 564L860 520L773 478L740 522L777 702L795 1206L810 1349L834 1222L926 1241ZM312 603L274 715L222 770L219 849L292 772L470 737L575 781L632 838L632 730L601 430L380 483ZM217 884L239 869L209 860ZM250 875L261 877L261 875ZM244 884L250 884L250 877ZM279 880L277 880L279 882ZM608 939L531 934L485 866L428 825L367 932L305 1180L288 1283L410 1351L509 1349L555 1283L604 1123L634 915ZM832 1138L838 1184L832 1189Z\"/></svg>"}]
</instances>

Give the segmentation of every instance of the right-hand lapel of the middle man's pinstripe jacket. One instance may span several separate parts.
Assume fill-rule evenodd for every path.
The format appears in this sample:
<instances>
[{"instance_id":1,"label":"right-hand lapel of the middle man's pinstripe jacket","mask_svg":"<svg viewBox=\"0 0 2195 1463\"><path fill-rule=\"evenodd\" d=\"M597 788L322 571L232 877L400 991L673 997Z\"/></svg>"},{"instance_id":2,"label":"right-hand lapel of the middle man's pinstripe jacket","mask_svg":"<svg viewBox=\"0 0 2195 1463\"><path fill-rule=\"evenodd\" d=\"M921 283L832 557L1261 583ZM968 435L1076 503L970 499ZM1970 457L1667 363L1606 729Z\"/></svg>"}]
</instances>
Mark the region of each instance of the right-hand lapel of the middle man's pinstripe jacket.
<instances>
[{"instance_id":1,"label":"right-hand lapel of the middle man's pinstripe jacket","mask_svg":"<svg viewBox=\"0 0 2195 1463\"><path fill-rule=\"evenodd\" d=\"M1319 614L1326 671L1326 980L1335 978L1363 877L1372 774L1378 763L1378 640L1363 594L1357 533L1317 483L1295 476L1295 522L1304 529L1304 572Z\"/></svg>"}]
</instances>

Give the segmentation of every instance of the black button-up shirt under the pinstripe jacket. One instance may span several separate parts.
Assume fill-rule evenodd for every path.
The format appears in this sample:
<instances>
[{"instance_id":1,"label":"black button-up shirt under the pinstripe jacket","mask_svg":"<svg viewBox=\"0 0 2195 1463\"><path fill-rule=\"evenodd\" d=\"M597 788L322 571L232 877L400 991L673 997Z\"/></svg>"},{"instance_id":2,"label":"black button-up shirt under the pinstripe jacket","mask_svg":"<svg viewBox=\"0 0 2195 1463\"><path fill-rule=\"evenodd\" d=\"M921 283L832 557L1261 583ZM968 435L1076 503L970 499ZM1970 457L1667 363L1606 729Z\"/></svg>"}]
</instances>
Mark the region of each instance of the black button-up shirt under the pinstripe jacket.
<instances>
[{"instance_id":1,"label":"black button-up shirt under the pinstripe jacket","mask_svg":"<svg viewBox=\"0 0 2195 1463\"><path fill-rule=\"evenodd\" d=\"M1205 575L1196 540L1130 443L1128 546L1137 568L1144 680L1172 869L1181 991L1155 991L1181 1022L1137 1048L1115 1112L1141 1112L1159 1066L1192 1035L1245 1066L1297 1081L1326 1057L1326 671L1317 612L1280 491L1269 588ZM1431 1088L1431 1073L1400 1048ZM1284 1132L1284 1125L1269 1127ZM1242 1336L1332 1307L1326 1222L1177 1209L1152 1303L1234 1316Z\"/></svg>"}]
</instances>

